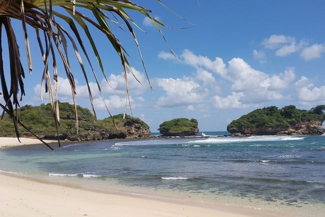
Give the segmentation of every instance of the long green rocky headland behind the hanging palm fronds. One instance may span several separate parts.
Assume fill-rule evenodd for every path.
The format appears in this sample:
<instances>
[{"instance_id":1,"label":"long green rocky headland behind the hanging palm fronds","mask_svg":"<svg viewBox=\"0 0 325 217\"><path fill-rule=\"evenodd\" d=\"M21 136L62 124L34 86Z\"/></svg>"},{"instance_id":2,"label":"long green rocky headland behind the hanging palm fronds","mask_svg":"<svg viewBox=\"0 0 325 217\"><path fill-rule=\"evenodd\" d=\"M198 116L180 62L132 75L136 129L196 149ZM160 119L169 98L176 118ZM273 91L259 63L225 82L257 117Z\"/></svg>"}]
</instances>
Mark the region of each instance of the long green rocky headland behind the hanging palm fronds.
<instances>
[{"instance_id":1,"label":"long green rocky headland behind the hanging palm fronds","mask_svg":"<svg viewBox=\"0 0 325 217\"><path fill-rule=\"evenodd\" d=\"M151 135L148 124L137 117L123 114L114 115L115 128L112 118L97 120L87 108L77 105L79 131L75 130L74 105L59 102L60 126L59 137L62 140L102 140L110 138L137 138ZM18 109L18 118L34 133L43 139L57 139L55 123L50 104L40 106L24 105ZM21 137L32 135L19 127ZM5 114L1 120L0 136L15 137L11 118Z\"/></svg>"}]
</instances>

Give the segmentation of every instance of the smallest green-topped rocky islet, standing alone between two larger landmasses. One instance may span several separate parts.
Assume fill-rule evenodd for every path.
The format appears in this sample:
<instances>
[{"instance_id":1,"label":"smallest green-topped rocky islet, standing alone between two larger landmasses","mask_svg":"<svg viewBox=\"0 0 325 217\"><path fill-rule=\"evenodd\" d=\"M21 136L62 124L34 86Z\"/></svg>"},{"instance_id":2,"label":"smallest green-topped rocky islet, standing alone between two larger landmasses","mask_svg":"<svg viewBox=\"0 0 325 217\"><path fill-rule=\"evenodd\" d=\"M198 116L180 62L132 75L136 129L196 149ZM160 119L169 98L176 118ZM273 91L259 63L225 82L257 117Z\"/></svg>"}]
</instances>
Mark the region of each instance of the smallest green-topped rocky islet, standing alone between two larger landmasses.
<instances>
[{"instance_id":1,"label":"smallest green-topped rocky islet, standing alone between two larger landmasses","mask_svg":"<svg viewBox=\"0 0 325 217\"><path fill-rule=\"evenodd\" d=\"M197 119L175 118L159 125L159 132L165 136L190 136L199 131Z\"/></svg>"}]
</instances>

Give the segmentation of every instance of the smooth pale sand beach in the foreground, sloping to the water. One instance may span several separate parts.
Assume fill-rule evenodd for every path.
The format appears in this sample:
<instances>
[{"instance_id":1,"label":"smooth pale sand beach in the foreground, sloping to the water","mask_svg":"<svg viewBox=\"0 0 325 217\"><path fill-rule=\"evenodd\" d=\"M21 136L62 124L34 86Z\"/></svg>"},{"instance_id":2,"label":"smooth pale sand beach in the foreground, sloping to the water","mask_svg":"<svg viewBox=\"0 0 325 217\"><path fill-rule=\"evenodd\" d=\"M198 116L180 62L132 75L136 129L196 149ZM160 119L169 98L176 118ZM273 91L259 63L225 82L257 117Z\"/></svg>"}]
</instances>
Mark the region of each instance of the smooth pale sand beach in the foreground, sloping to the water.
<instances>
[{"instance_id":1,"label":"smooth pale sand beach in the foreground, sloping to the water","mask_svg":"<svg viewBox=\"0 0 325 217\"><path fill-rule=\"evenodd\" d=\"M4 216L281 216L269 210L105 191L63 180L0 172ZM28 208L27 208L28 207ZM60 207L59 209L57 207ZM37 211L38 210L38 211ZM68 210L68 211L67 211ZM26 215L27 213L27 215Z\"/></svg>"}]
</instances>

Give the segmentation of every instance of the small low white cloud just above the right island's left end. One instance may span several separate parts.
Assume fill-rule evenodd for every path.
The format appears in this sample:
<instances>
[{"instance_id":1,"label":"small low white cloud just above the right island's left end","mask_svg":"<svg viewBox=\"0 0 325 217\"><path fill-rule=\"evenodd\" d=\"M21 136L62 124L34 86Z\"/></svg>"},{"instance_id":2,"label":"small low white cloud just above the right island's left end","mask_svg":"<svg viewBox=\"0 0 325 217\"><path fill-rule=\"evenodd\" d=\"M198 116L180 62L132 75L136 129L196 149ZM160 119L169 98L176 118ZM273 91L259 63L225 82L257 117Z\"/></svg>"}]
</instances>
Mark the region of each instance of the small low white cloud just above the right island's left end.
<instances>
[{"instance_id":1,"label":"small low white cloud just above the right island's left end","mask_svg":"<svg viewBox=\"0 0 325 217\"><path fill-rule=\"evenodd\" d=\"M216 95L213 97L214 106L218 109L249 107L248 104L243 104L239 101L243 96L245 96L243 92L232 92L232 95L228 95L225 98Z\"/></svg>"}]
</instances>

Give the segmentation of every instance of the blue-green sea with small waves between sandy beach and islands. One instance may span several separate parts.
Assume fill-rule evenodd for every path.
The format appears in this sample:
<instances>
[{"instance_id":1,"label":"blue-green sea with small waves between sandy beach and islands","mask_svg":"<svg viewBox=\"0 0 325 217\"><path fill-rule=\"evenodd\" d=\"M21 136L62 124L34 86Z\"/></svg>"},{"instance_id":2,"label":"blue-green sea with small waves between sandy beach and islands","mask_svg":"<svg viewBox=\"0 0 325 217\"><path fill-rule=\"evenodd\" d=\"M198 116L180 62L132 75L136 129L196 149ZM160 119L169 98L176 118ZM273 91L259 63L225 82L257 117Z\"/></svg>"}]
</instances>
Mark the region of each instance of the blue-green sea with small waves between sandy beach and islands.
<instances>
[{"instance_id":1,"label":"blue-green sea with small waves between sandy beach and islands","mask_svg":"<svg viewBox=\"0 0 325 217\"><path fill-rule=\"evenodd\" d=\"M153 197L325 216L325 136L87 141L0 149L0 170Z\"/></svg>"}]
</instances>

